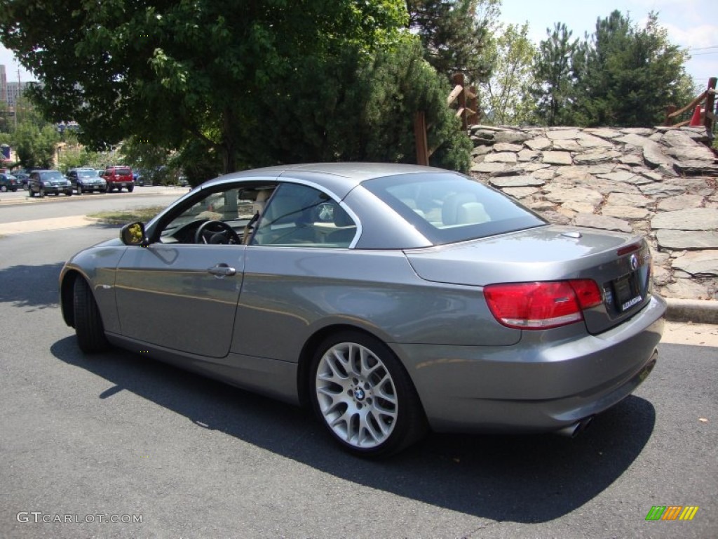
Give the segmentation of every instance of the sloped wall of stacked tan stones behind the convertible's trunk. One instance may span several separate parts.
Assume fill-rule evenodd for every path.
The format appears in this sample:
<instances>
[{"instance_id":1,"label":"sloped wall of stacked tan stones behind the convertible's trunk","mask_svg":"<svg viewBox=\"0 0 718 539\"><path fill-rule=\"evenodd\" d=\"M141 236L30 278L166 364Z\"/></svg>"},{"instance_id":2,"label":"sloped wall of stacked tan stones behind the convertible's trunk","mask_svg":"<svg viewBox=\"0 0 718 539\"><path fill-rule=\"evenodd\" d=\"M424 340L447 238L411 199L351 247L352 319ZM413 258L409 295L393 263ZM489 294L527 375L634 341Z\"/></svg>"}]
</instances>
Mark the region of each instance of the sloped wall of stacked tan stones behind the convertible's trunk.
<instances>
[{"instance_id":1,"label":"sloped wall of stacked tan stones behind the convertible's trunk","mask_svg":"<svg viewBox=\"0 0 718 539\"><path fill-rule=\"evenodd\" d=\"M718 159L702 128L472 126L471 174L552 223L635 232L668 298L718 300Z\"/></svg>"}]
</instances>

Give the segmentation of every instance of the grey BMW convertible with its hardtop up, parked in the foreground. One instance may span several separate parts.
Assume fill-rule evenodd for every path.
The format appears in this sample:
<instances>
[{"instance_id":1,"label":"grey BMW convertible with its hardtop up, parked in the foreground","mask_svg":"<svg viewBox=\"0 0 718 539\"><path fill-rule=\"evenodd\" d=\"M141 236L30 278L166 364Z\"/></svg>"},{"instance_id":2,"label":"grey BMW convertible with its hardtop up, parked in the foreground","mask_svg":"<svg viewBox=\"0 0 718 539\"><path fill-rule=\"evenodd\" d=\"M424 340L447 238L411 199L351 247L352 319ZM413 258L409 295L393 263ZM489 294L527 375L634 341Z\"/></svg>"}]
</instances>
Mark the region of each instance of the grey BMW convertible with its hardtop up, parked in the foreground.
<instances>
[{"instance_id":1,"label":"grey BMW convertible with its hardtop up, parked in the foreground","mask_svg":"<svg viewBox=\"0 0 718 539\"><path fill-rule=\"evenodd\" d=\"M574 435L656 364L651 288L640 236L371 163L208 181L60 275L85 353L143 351L311 406L361 456L428 429Z\"/></svg>"}]
</instances>

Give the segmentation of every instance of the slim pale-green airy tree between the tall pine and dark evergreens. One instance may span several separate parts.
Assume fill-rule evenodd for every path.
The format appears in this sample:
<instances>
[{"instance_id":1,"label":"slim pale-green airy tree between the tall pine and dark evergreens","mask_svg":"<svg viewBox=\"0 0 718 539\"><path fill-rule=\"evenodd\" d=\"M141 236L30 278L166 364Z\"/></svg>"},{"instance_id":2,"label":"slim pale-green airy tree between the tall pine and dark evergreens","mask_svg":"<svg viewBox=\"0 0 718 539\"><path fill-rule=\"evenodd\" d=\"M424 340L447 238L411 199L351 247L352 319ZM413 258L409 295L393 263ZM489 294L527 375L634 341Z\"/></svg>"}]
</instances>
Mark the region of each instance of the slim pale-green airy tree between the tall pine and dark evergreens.
<instances>
[{"instance_id":1,"label":"slim pale-green airy tree between the tall pine and dark evergreens","mask_svg":"<svg viewBox=\"0 0 718 539\"><path fill-rule=\"evenodd\" d=\"M488 58L493 75L480 84L480 103L488 121L516 125L532 121L536 104L529 95L536 47L528 39L528 23L509 24L493 40Z\"/></svg>"}]
</instances>

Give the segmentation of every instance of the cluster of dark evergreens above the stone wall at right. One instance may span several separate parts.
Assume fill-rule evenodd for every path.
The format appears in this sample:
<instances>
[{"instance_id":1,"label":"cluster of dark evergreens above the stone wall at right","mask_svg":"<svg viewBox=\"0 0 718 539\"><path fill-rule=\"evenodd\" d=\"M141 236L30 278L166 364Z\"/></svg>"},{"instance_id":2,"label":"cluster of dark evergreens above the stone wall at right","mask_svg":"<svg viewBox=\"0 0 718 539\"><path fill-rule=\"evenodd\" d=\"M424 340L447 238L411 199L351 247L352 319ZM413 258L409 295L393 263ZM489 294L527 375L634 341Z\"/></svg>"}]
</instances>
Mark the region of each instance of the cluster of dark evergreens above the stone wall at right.
<instances>
[{"instance_id":1,"label":"cluster of dark evergreens above the stone wall at right","mask_svg":"<svg viewBox=\"0 0 718 539\"><path fill-rule=\"evenodd\" d=\"M572 40L562 23L548 34L534 63L539 123L654 126L669 104L693 98L686 53L671 44L656 13L639 28L613 11L584 40Z\"/></svg>"}]
</instances>

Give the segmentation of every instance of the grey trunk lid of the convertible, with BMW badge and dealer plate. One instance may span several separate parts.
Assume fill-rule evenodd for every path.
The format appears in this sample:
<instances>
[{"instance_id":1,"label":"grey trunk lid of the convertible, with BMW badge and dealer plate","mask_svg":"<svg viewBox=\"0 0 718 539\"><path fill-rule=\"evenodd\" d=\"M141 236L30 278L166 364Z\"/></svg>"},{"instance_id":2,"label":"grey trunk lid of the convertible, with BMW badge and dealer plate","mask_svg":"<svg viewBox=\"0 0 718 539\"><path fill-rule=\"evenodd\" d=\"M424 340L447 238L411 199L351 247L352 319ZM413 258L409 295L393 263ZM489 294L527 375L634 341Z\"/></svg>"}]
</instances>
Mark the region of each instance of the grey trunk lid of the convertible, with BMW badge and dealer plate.
<instances>
[{"instance_id":1,"label":"grey trunk lid of the convertible, with BMW badge and dealer plate","mask_svg":"<svg viewBox=\"0 0 718 539\"><path fill-rule=\"evenodd\" d=\"M630 318L651 296L651 252L632 234L549 225L405 254L416 274L433 282L595 280L603 301L584 310L590 333Z\"/></svg>"}]
</instances>

